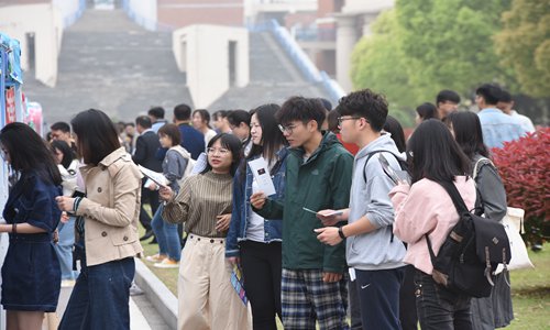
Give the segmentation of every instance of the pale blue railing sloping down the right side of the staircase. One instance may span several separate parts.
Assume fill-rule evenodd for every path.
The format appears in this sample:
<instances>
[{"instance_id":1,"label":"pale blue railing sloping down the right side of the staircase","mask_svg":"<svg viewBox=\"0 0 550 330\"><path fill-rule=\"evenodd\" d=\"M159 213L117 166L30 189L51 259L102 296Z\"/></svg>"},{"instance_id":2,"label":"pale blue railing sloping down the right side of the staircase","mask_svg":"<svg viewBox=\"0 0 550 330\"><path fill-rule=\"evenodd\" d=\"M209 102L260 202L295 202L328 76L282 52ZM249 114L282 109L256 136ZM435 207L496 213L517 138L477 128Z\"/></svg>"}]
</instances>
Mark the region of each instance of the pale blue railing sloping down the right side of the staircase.
<instances>
[{"instance_id":1,"label":"pale blue railing sloping down the right side of the staircase","mask_svg":"<svg viewBox=\"0 0 550 330\"><path fill-rule=\"evenodd\" d=\"M338 102L345 95L342 87L331 79L326 72L319 72L288 31L280 26L276 20L249 25L248 28L251 32L270 32L306 79L309 82L320 84L332 102Z\"/></svg>"}]
</instances>

